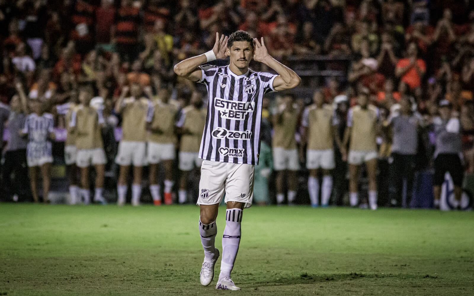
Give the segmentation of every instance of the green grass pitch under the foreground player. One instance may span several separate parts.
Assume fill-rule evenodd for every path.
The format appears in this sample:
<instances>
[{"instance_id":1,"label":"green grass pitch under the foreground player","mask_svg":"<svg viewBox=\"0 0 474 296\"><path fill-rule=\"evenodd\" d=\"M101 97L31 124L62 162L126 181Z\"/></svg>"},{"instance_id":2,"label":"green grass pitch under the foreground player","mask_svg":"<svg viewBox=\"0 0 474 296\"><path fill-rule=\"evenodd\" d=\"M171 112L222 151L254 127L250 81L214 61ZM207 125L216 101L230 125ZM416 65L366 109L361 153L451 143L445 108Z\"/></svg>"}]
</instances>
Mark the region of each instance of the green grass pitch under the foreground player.
<instances>
[{"instance_id":1,"label":"green grass pitch under the foreground player","mask_svg":"<svg viewBox=\"0 0 474 296\"><path fill-rule=\"evenodd\" d=\"M245 212L230 292L199 283L197 206L1 204L0 295L474 295L473 212Z\"/></svg>"}]
</instances>

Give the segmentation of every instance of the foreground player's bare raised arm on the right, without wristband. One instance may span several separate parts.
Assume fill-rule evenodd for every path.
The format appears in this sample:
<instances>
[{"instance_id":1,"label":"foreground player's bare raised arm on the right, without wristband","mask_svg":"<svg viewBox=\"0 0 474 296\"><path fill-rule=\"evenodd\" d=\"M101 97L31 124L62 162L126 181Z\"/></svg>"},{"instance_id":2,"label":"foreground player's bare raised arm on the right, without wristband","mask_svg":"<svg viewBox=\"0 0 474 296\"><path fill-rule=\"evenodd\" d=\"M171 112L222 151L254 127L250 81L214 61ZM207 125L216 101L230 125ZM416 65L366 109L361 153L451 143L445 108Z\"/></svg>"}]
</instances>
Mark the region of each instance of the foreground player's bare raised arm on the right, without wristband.
<instances>
[{"instance_id":1,"label":"foreground player's bare raised arm on the right, without wristband","mask_svg":"<svg viewBox=\"0 0 474 296\"><path fill-rule=\"evenodd\" d=\"M262 43L257 38L254 38L254 60L264 63L278 73L278 76L273 80L273 90L290 90L300 85L300 76L268 54L263 37L261 41Z\"/></svg>"}]
</instances>

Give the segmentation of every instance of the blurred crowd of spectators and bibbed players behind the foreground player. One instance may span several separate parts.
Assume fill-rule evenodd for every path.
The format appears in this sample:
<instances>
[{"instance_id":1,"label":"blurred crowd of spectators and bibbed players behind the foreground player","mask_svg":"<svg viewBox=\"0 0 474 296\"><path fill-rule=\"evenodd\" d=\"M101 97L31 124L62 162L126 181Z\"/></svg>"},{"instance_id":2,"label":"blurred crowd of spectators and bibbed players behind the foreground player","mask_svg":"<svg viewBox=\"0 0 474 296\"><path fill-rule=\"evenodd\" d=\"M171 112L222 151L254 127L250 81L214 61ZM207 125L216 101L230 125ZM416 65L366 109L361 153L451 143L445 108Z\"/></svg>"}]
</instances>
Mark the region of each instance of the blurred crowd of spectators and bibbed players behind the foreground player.
<instances>
[{"instance_id":1,"label":"blurred crowd of spectators and bibbed players behind the foreground player","mask_svg":"<svg viewBox=\"0 0 474 296\"><path fill-rule=\"evenodd\" d=\"M207 102L173 65L212 48L215 32L237 29L263 36L289 67L315 56L328 70L350 61L346 75L316 87L303 77L310 96L297 89L265 100L256 202L293 203L309 191L313 206L400 206L400 176L411 192L414 172L427 168L437 171L435 197L445 171L460 194L465 171L474 170L473 8L467 0L0 0L2 198L47 200L57 163L77 200L89 202L93 184L94 200L105 203L104 179L115 178L123 204L133 173L136 205L143 182L157 205L162 195L192 202L188 181L200 161L190 153L199 150ZM313 109L331 110L322 148L311 146ZM92 144L76 147L81 135ZM124 141L144 145L117 144ZM154 158L150 143L169 153ZM128 161L129 150L144 151ZM332 150L334 164L308 167L319 157L313 150ZM362 176L368 202L356 195Z\"/></svg>"}]
</instances>

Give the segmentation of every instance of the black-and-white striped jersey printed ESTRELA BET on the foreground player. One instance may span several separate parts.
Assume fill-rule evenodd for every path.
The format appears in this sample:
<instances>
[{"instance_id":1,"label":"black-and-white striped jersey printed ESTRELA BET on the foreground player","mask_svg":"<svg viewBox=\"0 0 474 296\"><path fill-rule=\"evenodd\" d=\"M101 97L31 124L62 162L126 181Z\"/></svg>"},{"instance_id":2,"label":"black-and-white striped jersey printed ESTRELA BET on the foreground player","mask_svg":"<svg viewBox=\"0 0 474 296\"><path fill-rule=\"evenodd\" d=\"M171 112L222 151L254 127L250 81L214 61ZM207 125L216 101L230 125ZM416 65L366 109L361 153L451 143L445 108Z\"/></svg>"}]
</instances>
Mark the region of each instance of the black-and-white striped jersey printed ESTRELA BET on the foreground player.
<instances>
[{"instance_id":1,"label":"black-and-white striped jersey printed ESTRELA BET on the foreground player","mask_svg":"<svg viewBox=\"0 0 474 296\"><path fill-rule=\"evenodd\" d=\"M229 66L200 66L208 90L206 125L199 157L208 161L258 164L264 94L275 74L250 69L237 75Z\"/></svg>"}]
</instances>

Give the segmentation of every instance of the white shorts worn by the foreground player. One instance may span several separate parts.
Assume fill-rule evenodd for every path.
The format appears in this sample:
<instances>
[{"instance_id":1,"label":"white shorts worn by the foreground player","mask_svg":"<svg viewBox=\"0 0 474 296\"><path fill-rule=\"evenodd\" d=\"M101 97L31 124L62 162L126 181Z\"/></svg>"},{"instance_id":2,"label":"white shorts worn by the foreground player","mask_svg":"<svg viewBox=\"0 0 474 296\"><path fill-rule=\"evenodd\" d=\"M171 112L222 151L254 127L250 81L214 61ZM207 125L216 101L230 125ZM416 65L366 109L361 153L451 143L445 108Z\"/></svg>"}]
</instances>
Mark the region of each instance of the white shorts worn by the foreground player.
<instances>
[{"instance_id":1,"label":"white shorts worn by the foreground player","mask_svg":"<svg viewBox=\"0 0 474 296\"><path fill-rule=\"evenodd\" d=\"M237 201L252 206L254 198L254 165L203 161L199 181L198 205L215 205Z\"/></svg>"}]
</instances>

